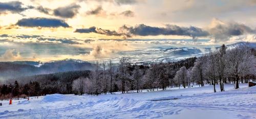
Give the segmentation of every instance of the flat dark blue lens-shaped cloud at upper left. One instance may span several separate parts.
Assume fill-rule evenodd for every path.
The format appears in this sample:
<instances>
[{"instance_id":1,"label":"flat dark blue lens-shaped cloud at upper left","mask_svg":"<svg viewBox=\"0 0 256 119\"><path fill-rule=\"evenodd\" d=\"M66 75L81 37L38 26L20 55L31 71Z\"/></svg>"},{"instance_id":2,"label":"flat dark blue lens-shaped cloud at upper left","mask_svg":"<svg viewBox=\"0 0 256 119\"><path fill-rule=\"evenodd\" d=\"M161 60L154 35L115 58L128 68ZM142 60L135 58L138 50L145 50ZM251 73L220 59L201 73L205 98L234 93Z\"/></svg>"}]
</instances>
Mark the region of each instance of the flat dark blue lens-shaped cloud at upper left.
<instances>
[{"instance_id":1,"label":"flat dark blue lens-shaped cloud at upper left","mask_svg":"<svg viewBox=\"0 0 256 119\"><path fill-rule=\"evenodd\" d=\"M57 28L57 27L70 27L68 23L64 20L54 19L54 18L23 18L18 20L16 25L21 27L49 27L49 28Z\"/></svg>"}]
</instances>

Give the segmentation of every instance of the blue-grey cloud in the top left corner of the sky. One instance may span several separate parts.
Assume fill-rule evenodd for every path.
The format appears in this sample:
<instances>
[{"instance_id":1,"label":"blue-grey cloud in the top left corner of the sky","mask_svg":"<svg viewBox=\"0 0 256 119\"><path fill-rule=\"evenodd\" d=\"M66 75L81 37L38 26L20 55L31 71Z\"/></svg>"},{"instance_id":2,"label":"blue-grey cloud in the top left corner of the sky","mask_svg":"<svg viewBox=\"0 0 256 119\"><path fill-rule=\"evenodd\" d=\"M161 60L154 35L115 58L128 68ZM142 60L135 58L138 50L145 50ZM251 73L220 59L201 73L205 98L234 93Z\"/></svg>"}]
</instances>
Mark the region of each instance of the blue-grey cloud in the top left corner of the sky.
<instances>
[{"instance_id":1,"label":"blue-grey cloud in the top left corner of the sky","mask_svg":"<svg viewBox=\"0 0 256 119\"><path fill-rule=\"evenodd\" d=\"M12 1L12 2L6 2L2 3L0 2L0 14L11 12L11 13L20 13L27 9L32 9L32 6L22 7L23 3L18 1Z\"/></svg>"}]
</instances>

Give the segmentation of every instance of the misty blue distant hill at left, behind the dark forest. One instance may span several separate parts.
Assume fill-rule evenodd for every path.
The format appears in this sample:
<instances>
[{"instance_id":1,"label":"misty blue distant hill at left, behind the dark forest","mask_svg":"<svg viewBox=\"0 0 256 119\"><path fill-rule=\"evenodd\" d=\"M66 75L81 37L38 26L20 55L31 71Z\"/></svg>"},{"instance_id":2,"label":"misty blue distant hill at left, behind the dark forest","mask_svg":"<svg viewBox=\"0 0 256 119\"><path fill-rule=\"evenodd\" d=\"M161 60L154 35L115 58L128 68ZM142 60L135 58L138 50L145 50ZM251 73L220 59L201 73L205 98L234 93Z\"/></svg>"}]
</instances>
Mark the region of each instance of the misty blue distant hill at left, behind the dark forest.
<instances>
[{"instance_id":1,"label":"misty blue distant hill at left, behind the dark forest","mask_svg":"<svg viewBox=\"0 0 256 119\"><path fill-rule=\"evenodd\" d=\"M45 63L33 61L0 62L0 80L74 70L93 70L94 67L95 65L92 63L74 59Z\"/></svg>"}]
</instances>

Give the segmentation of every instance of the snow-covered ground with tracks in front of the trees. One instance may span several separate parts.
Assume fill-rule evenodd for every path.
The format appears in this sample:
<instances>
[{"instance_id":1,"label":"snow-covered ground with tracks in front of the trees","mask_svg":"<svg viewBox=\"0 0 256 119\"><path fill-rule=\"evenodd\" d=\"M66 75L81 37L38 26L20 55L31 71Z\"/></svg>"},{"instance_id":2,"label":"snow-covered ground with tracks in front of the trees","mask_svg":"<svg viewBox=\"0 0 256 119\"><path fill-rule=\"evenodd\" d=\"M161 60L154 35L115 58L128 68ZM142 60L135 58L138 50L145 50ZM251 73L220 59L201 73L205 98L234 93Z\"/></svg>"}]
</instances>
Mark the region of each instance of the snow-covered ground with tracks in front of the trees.
<instances>
[{"instance_id":1,"label":"snow-covered ground with tracks in front of the trees","mask_svg":"<svg viewBox=\"0 0 256 119\"><path fill-rule=\"evenodd\" d=\"M240 84L100 96L51 94L3 101L0 118L256 118L256 86ZM219 86L217 85L217 91Z\"/></svg>"}]
</instances>

